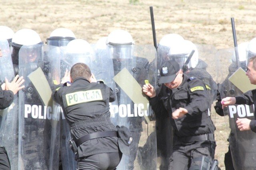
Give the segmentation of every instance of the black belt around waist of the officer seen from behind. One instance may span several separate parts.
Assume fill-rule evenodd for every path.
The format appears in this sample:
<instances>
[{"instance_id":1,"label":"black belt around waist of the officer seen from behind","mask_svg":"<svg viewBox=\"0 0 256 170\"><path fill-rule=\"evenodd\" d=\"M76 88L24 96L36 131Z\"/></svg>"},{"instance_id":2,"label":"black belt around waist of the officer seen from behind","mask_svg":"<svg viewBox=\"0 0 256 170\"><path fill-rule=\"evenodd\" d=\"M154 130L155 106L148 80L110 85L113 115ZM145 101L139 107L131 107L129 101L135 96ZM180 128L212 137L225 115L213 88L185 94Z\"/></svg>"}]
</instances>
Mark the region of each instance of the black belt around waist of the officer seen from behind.
<instances>
[{"instance_id":1,"label":"black belt around waist of the officer seen from behind","mask_svg":"<svg viewBox=\"0 0 256 170\"><path fill-rule=\"evenodd\" d=\"M76 141L76 146L78 147L85 141L88 141L91 139L95 139L95 138L99 138L99 137L110 137L110 136L117 137L117 131L102 131L102 132L95 132L95 133L90 133L88 135L84 135L83 137L80 137Z\"/></svg>"}]
</instances>

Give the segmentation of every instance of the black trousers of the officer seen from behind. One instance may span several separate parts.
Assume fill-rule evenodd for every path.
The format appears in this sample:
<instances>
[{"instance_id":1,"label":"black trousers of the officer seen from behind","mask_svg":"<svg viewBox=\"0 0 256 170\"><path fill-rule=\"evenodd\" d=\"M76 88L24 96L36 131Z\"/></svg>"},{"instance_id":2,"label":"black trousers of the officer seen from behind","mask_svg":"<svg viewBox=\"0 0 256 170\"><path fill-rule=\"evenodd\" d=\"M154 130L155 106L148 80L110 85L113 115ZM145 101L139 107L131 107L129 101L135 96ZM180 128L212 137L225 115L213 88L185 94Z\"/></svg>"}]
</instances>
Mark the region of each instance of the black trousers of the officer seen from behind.
<instances>
[{"instance_id":1,"label":"black trousers of the officer seen from behind","mask_svg":"<svg viewBox=\"0 0 256 170\"><path fill-rule=\"evenodd\" d=\"M122 152L84 156L77 160L76 170L115 170L121 158Z\"/></svg>"}]
</instances>

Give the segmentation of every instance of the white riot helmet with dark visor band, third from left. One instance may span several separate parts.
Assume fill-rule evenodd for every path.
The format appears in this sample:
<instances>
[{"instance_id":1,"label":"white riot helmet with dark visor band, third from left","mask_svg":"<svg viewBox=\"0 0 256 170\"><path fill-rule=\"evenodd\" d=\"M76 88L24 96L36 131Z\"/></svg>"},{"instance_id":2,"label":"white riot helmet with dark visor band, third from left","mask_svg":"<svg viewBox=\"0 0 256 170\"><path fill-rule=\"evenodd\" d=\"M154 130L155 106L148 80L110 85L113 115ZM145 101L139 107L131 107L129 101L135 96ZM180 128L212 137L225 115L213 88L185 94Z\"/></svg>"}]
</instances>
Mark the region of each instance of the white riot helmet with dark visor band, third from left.
<instances>
[{"instance_id":1,"label":"white riot helmet with dark visor band, third from left","mask_svg":"<svg viewBox=\"0 0 256 170\"><path fill-rule=\"evenodd\" d=\"M57 28L50 34L50 37L46 39L47 45L52 46L66 46L70 41L76 39L74 33L67 28Z\"/></svg>"}]
</instances>

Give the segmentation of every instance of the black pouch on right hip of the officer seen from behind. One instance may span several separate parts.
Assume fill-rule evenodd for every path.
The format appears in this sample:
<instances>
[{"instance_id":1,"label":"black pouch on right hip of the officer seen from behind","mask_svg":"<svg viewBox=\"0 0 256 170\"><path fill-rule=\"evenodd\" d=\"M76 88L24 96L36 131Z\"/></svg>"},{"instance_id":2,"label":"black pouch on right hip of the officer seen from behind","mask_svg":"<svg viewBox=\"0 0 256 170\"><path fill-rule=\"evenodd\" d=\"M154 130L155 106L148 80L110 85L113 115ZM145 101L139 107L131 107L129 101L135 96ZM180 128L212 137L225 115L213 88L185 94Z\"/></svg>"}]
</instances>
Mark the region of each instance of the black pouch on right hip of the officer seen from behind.
<instances>
[{"instance_id":1,"label":"black pouch on right hip of the officer seen from behind","mask_svg":"<svg viewBox=\"0 0 256 170\"><path fill-rule=\"evenodd\" d=\"M132 143L132 134L130 130L125 126L116 126L117 137L118 137L118 147L120 151L125 155L130 155L129 146Z\"/></svg>"}]
</instances>

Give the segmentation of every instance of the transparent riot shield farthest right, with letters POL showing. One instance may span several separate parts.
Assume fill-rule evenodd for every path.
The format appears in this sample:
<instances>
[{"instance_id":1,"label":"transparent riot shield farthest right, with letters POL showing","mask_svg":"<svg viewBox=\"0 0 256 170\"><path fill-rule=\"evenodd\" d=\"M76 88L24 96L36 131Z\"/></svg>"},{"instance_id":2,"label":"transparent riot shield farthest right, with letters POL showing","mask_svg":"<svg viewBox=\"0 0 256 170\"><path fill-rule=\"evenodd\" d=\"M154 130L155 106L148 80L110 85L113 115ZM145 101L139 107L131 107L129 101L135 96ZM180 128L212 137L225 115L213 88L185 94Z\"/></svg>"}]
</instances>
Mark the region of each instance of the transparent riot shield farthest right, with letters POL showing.
<instances>
[{"instance_id":1,"label":"transparent riot shield farthest right, with letters POL showing","mask_svg":"<svg viewBox=\"0 0 256 170\"><path fill-rule=\"evenodd\" d=\"M221 49L216 54L216 70L218 70L221 98L239 96L256 88L250 84L246 76L245 61L241 62L239 56L236 61L232 61L232 55L235 54L234 48ZM240 131L236 124L238 118L254 119L253 106L244 104L228 106L224 108L224 115L229 124L227 126L229 127L228 141L234 168L236 170L254 170L256 168L256 133L250 130Z\"/></svg>"}]
</instances>

